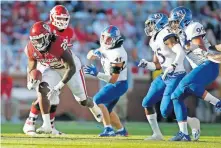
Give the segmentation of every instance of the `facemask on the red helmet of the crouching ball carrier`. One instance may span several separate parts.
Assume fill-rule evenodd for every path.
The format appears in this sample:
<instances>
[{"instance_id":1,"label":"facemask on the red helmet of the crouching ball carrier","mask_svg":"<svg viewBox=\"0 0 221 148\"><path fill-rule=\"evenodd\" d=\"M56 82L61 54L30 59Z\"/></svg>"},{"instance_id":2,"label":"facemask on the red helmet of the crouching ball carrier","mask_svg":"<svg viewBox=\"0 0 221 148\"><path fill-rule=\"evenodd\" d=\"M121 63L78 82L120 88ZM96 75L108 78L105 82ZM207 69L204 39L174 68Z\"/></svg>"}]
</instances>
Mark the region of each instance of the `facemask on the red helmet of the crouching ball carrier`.
<instances>
[{"instance_id":1,"label":"facemask on the red helmet of the crouching ball carrier","mask_svg":"<svg viewBox=\"0 0 221 148\"><path fill-rule=\"evenodd\" d=\"M40 34L38 36L30 36L30 40L32 45L37 49L38 51L46 51L46 48L50 44L50 34L46 33Z\"/></svg>"}]
</instances>

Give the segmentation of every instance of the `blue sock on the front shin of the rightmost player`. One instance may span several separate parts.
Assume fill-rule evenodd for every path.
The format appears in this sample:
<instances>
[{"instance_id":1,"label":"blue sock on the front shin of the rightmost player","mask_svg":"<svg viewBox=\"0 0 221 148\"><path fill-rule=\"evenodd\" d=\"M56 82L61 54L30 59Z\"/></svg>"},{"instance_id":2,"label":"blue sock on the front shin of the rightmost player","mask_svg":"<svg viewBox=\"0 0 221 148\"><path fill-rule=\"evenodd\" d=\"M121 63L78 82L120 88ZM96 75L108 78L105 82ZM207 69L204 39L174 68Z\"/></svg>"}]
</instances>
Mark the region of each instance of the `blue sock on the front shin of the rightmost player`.
<instances>
[{"instance_id":1,"label":"blue sock on the front shin of the rightmost player","mask_svg":"<svg viewBox=\"0 0 221 148\"><path fill-rule=\"evenodd\" d=\"M182 99L173 99L174 112L177 121L187 120L187 108Z\"/></svg>"}]
</instances>

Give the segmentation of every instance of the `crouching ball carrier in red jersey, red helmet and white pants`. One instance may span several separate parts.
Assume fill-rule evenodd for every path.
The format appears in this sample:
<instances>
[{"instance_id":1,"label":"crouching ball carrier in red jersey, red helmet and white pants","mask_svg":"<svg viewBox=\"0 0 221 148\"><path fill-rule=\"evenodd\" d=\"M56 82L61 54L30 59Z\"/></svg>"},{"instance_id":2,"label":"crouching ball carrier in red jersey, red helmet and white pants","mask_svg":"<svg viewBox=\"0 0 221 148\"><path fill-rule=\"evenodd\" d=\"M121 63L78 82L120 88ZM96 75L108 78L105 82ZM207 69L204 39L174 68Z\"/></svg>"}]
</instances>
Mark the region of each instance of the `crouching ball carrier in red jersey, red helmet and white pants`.
<instances>
[{"instance_id":1,"label":"crouching ball carrier in red jersey, red helmet and white pants","mask_svg":"<svg viewBox=\"0 0 221 148\"><path fill-rule=\"evenodd\" d=\"M49 113L59 104L60 90L65 84L79 104L88 107L97 121L102 120L100 109L87 97L80 60L67 44L67 39L54 35L44 22L37 22L31 28L30 41L25 48L28 74L33 69L38 69L42 73L40 83L30 77L27 85L28 89L36 89L38 103L35 105L39 104L42 113L43 125L36 130L37 133L53 133L55 130L50 122ZM35 121L36 115L31 111L23 128L24 133L35 134Z\"/></svg>"}]
</instances>

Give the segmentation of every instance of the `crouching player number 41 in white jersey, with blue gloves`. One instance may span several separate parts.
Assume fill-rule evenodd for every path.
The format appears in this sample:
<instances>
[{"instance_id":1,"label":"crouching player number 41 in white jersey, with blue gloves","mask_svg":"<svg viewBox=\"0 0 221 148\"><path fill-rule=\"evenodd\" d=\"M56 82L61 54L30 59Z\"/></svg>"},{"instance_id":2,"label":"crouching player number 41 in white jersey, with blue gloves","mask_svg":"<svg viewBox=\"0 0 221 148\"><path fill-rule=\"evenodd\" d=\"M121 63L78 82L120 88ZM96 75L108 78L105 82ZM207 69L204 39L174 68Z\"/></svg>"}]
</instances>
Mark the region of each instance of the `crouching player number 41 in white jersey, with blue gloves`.
<instances>
[{"instance_id":1,"label":"crouching player number 41 in white jersey, with blue gloves","mask_svg":"<svg viewBox=\"0 0 221 148\"><path fill-rule=\"evenodd\" d=\"M96 67L85 66L84 73L105 81L107 84L93 97L94 102L103 113L104 131L101 137L127 136L126 129L121 124L118 115L113 111L120 96L128 89L127 82L127 53L123 47L123 38L116 26L108 26L100 37L101 47L91 50L87 58L101 60L104 73L98 72ZM112 125L117 129L114 132Z\"/></svg>"}]
</instances>

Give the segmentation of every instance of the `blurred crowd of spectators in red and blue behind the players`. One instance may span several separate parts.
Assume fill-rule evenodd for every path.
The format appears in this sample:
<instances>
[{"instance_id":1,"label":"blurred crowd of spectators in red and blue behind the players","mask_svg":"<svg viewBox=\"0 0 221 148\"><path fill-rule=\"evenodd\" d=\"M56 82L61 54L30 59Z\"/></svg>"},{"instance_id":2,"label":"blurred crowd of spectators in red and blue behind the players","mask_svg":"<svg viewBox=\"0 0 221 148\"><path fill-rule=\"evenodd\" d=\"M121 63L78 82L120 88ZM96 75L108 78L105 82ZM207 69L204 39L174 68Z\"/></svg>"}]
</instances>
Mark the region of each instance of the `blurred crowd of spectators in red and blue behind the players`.
<instances>
[{"instance_id":1,"label":"blurred crowd of spectators in red and blue behind the players","mask_svg":"<svg viewBox=\"0 0 221 148\"><path fill-rule=\"evenodd\" d=\"M100 33L106 26L116 25L120 29L129 57L130 80L132 74L151 75L137 68L140 59L152 60L149 38L144 33L144 22L151 13L169 15L177 6L190 8L194 20L204 25L210 43L221 42L220 1L4 1L1 3L2 73L26 74L27 59L23 51L29 29L36 21L49 21L50 10L58 4L69 10L70 26L75 33L73 52L82 64L88 64L87 52L99 47Z\"/></svg>"}]
</instances>

